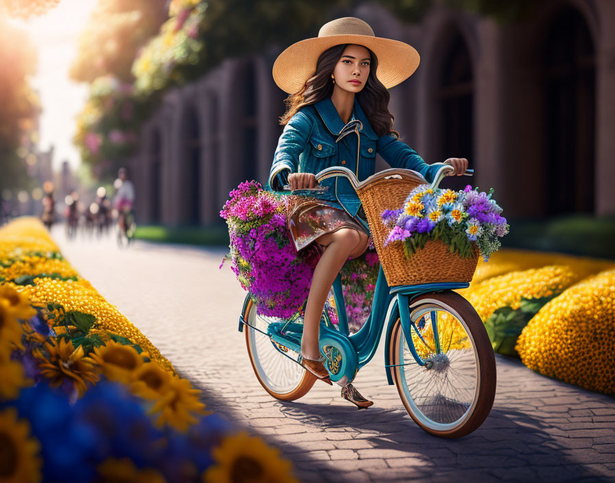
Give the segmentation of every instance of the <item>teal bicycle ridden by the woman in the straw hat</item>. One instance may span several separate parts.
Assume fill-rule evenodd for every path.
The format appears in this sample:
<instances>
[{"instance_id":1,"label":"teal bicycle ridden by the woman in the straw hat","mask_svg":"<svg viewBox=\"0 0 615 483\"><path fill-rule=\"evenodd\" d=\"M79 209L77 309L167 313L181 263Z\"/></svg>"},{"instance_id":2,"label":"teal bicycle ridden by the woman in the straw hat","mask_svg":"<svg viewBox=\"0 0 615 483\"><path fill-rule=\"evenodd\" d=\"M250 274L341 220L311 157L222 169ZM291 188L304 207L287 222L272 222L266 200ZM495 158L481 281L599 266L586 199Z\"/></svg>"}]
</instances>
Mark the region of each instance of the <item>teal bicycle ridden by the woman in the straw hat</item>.
<instances>
[{"instance_id":1,"label":"teal bicycle ridden by the woman in the straw hat","mask_svg":"<svg viewBox=\"0 0 615 483\"><path fill-rule=\"evenodd\" d=\"M431 187L437 187L452 169L441 167ZM408 169L386 169L359 182L344 167L327 168L316 174L316 180L336 176L345 176L358 192L369 182L395 179L404 182L407 195L426 183L420 174ZM373 220L365 223L373 233L372 224ZM381 265L369 318L351 334L338 274L332 287L338 325L332 323L326 305L320 325L319 345L330 379L340 386L353 381L375 355L386 324L386 378L388 384L397 386L413 421L426 432L445 438L474 431L494 403L496 361L476 310L453 292L468 286L467 282L431 282L389 287ZM255 375L272 397L283 401L302 397L316 381L297 362L303 329L299 322L298 316L290 320L260 316L250 294L240 315L239 331L246 329Z\"/></svg>"}]
</instances>

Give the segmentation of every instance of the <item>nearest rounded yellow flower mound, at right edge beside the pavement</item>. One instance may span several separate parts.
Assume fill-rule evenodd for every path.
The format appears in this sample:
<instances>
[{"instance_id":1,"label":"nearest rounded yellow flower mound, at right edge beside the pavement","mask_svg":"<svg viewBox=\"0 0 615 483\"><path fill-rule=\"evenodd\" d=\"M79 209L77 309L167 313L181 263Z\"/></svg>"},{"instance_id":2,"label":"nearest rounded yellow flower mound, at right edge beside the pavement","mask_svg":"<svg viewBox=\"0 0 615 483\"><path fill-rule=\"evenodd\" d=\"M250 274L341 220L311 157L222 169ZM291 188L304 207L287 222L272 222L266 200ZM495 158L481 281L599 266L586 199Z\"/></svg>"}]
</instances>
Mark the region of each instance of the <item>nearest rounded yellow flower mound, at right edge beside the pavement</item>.
<instances>
[{"instance_id":1,"label":"nearest rounded yellow flower mound, at right edge beside the pavement","mask_svg":"<svg viewBox=\"0 0 615 483\"><path fill-rule=\"evenodd\" d=\"M615 393L615 269L568 288L538 311L515 349L537 372Z\"/></svg>"}]
</instances>

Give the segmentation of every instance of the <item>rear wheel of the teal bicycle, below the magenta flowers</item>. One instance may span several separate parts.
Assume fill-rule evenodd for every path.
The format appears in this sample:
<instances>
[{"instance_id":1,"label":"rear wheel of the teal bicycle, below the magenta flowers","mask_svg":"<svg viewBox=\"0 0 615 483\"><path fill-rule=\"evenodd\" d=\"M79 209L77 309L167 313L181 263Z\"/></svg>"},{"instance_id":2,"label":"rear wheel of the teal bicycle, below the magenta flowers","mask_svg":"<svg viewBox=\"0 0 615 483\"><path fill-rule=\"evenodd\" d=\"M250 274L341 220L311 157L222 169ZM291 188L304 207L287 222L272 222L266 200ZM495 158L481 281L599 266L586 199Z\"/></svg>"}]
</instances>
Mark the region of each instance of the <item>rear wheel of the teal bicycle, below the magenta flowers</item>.
<instances>
[{"instance_id":1,"label":"rear wheel of the teal bicycle, below the magenta flowers","mask_svg":"<svg viewBox=\"0 0 615 483\"><path fill-rule=\"evenodd\" d=\"M248 301L244 320L248 323L244 325L248 355L261 386L281 401L293 401L307 394L316 377L291 360L296 361L299 354L262 333L267 332L270 321L274 319L257 314L255 303Z\"/></svg>"}]
</instances>

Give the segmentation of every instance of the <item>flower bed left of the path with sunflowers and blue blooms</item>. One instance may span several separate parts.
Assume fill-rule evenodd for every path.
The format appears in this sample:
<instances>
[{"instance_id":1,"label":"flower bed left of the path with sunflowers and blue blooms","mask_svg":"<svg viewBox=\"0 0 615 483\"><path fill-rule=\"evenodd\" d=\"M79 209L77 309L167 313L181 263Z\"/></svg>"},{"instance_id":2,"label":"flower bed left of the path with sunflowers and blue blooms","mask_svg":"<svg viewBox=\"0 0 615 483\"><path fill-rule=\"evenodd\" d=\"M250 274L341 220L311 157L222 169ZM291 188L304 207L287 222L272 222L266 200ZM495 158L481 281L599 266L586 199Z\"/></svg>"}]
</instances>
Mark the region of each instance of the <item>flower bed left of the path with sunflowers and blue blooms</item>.
<instances>
[{"instance_id":1,"label":"flower bed left of the path with sunflowers and blue blooms","mask_svg":"<svg viewBox=\"0 0 615 483\"><path fill-rule=\"evenodd\" d=\"M0 228L0 240L0 441L14 455L1 480L218 482L247 468L296 482L279 451L205 411L200 391L95 296L38 220Z\"/></svg>"}]
</instances>

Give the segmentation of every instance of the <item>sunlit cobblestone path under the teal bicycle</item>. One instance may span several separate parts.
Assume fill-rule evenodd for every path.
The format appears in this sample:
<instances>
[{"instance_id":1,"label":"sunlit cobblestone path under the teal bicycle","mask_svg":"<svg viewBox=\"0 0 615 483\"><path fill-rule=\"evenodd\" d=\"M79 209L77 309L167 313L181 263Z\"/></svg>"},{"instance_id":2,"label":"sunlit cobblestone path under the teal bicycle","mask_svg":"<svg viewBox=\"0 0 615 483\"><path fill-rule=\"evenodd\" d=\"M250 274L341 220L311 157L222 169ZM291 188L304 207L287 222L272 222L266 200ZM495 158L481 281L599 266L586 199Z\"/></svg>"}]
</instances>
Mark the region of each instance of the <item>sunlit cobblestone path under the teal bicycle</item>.
<instances>
[{"instance_id":1,"label":"sunlit cobblestone path under the teal bicycle","mask_svg":"<svg viewBox=\"0 0 615 483\"><path fill-rule=\"evenodd\" d=\"M280 447L303 482L615 481L615 399L548 379L498 357L494 408L459 440L435 438L410 419L386 384L382 343L356 386L374 401L357 411L338 386L316 382L302 399L276 401L259 385L237 332L244 292L222 248L200 250L112 237L62 252L172 364L204 402Z\"/></svg>"}]
</instances>

